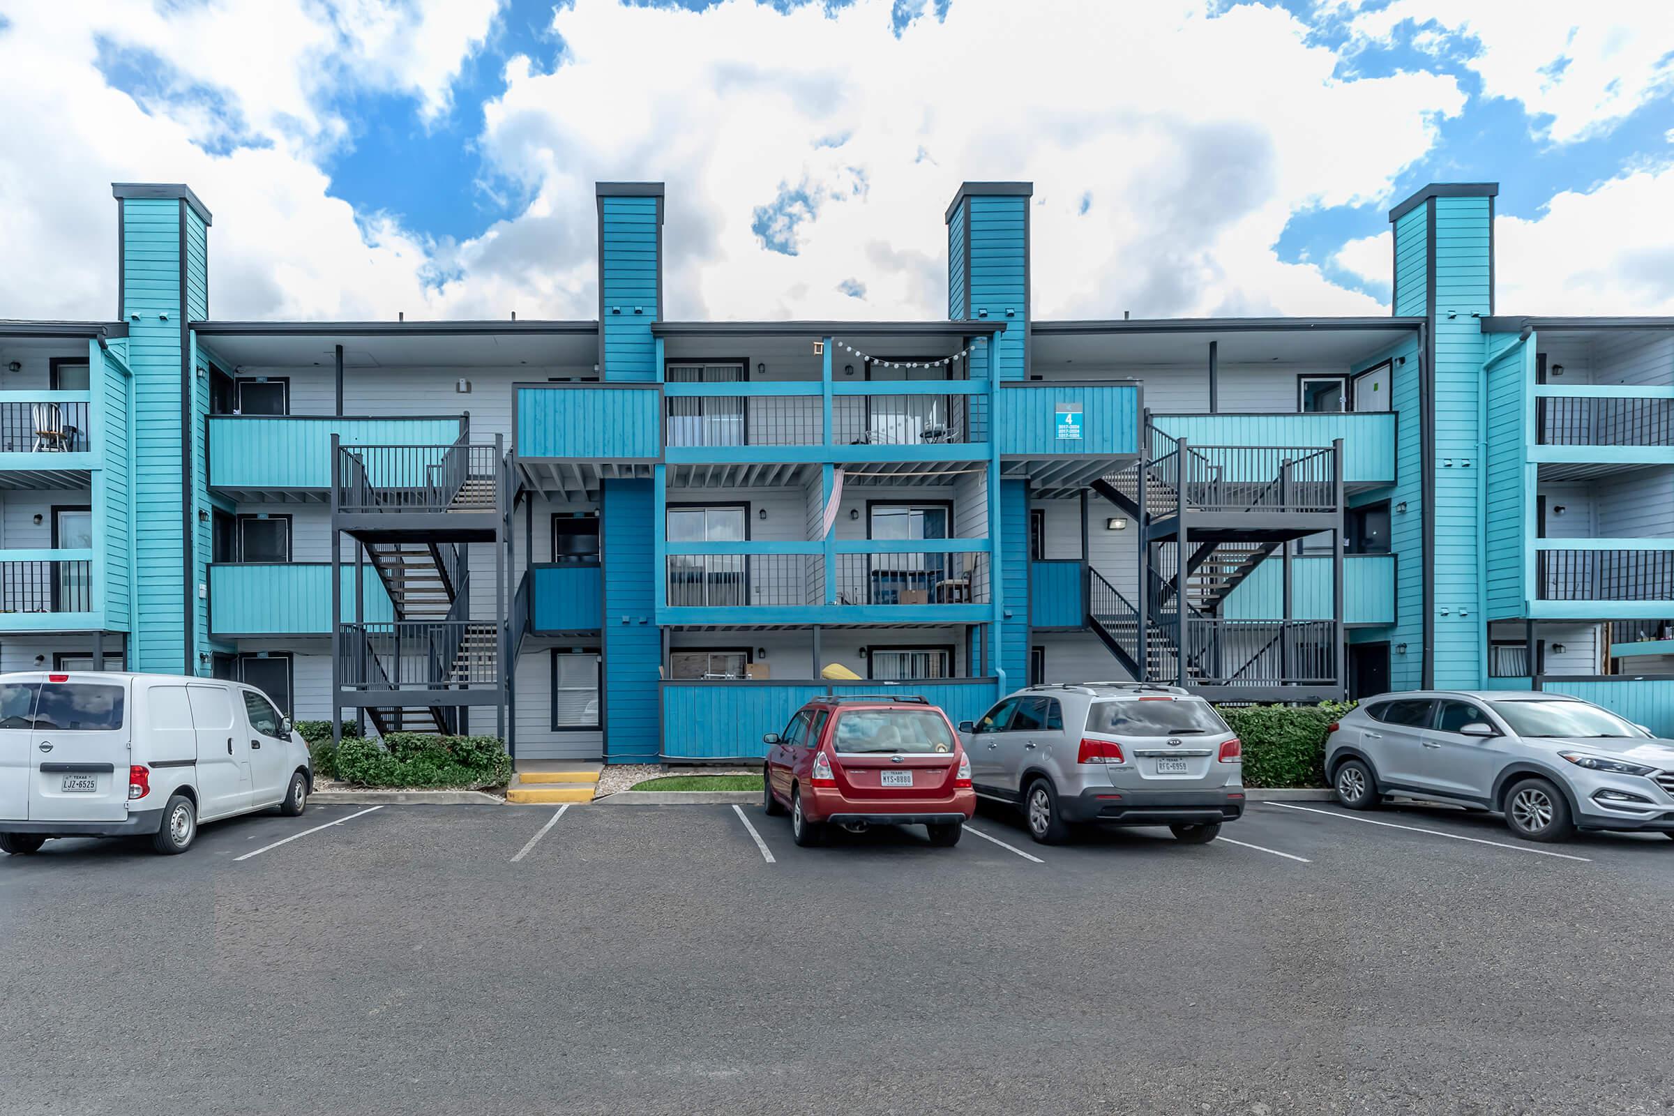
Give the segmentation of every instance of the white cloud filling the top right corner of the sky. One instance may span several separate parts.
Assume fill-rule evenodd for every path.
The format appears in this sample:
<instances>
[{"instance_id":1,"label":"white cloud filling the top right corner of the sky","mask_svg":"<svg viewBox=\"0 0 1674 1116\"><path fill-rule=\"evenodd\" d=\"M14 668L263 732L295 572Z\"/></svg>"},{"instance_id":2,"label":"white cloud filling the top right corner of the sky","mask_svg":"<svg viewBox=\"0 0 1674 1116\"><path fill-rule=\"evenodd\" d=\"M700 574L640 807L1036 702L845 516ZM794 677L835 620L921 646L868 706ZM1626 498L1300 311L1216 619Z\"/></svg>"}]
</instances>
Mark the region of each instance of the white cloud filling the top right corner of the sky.
<instances>
[{"instance_id":1,"label":"white cloud filling the top right corner of the sky","mask_svg":"<svg viewBox=\"0 0 1674 1116\"><path fill-rule=\"evenodd\" d=\"M1674 92L1674 13L1667 0L1394 0L1361 12L1351 28L1389 42L1411 20L1415 45L1436 55L1473 37L1466 65L1490 97L1550 115L1557 142L1607 131Z\"/></svg>"}]
</instances>

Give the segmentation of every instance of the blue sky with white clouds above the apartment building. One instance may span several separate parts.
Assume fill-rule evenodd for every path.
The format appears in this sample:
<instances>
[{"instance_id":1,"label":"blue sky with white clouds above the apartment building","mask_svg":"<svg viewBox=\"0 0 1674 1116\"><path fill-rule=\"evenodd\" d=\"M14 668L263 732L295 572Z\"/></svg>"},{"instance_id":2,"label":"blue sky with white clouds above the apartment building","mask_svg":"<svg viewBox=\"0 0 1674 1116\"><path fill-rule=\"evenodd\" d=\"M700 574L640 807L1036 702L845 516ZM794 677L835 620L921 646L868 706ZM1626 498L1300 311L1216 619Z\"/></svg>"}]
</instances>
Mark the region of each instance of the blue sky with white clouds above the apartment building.
<instances>
[{"instance_id":1,"label":"blue sky with white clouds above the apartment building","mask_svg":"<svg viewBox=\"0 0 1674 1116\"><path fill-rule=\"evenodd\" d=\"M214 212L214 318L944 318L1035 184L1036 318L1383 315L1388 209L1500 182L1498 310L1674 315L1669 0L0 0L0 318L116 313L114 181Z\"/></svg>"}]
</instances>

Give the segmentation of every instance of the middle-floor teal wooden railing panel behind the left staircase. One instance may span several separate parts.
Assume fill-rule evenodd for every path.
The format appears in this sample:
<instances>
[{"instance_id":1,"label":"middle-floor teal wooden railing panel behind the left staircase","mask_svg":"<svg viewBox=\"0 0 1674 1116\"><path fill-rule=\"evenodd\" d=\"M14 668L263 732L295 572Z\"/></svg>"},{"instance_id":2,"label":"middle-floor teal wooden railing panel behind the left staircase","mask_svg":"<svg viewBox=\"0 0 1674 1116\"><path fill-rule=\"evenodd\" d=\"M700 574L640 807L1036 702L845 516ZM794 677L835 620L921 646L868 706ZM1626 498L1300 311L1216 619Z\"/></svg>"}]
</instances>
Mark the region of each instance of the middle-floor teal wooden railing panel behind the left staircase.
<instances>
[{"instance_id":1,"label":"middle-floor teal wooden railing panel behind the left staircase","mask_svg":"<svg viewBox=\"0 0 1674 1116\"><path fill-rule=\"evenodd\" d=\"M355 567L343 566L341 619L355 621ZM209 579L209 622L216 637L231 636L326 636L331 631L330 562L213 564ZM362 567L367 621L395 619L390 594L372 566Z\"/></svg>"}]
</instances>

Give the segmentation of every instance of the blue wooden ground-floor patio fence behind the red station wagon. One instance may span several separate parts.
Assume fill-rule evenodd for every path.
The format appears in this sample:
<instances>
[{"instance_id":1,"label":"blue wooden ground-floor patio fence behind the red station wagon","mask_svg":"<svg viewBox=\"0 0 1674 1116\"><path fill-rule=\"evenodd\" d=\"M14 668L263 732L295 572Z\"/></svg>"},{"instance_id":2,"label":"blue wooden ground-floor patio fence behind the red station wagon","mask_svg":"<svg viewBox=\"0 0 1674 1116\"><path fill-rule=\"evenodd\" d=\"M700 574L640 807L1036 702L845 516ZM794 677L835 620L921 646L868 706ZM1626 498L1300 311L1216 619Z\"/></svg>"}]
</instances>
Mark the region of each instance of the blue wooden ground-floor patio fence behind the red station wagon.
<instances>
[{"instance_id":1,"label":"blue wooden ground-floor patio fence behind the red station wagon","mask_svg":"<svg viewBox=\"0 0 1674 1116\"><path fill-rule=\"evenodd\" d=\"M998 699L993 679L966 683L825 684L663 683L663 755L680 760L760 760L763 733L782 733L797 709L835 694L917 694L941 706L954 728L974 721Z\"/></svg>"}]
</instances>

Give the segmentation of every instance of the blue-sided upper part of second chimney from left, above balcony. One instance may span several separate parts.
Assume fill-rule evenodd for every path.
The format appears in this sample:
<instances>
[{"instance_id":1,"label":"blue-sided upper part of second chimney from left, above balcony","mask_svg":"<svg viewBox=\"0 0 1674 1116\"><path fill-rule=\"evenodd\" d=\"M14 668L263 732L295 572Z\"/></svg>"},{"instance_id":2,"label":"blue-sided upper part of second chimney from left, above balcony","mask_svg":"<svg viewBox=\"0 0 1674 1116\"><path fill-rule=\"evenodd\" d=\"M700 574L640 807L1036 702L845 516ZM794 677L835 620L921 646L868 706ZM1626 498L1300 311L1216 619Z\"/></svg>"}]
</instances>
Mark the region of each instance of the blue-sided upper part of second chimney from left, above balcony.
<instances>
[{"instance_id":1,"label":"blue-sided upper part of second chimney from left, above balcony","mask_svg":"<svg viewBox=\"0 0 1674 1116\"><path fill-rule=\"evenodd\" d=\"M660 197L599 197L604 378L656 380Z\"/></svg>"}]
</instances>

